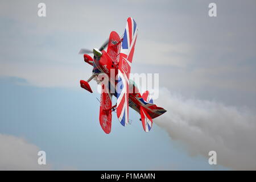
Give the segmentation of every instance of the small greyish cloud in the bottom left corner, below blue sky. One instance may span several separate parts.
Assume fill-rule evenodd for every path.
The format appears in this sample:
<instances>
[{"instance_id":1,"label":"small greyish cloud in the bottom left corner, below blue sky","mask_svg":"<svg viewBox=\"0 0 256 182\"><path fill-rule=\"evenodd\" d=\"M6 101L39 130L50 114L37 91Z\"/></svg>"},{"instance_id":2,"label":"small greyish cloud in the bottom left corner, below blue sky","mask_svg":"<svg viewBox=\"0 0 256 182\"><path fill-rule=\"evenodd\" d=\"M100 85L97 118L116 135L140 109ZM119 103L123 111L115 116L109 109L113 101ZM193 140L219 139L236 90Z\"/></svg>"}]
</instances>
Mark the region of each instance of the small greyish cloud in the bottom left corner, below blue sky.
<instances>
[{"instance_id":1,"label":"small greyish cloud in the bottom left corner, below blue sky","mask_svg":"<svg viewBox=\"0 0 256 182\"><path fill-rule=\"evenodd\" d=\"M38 146L25 139L0 134L0 170L49 170L50 164L38 164Z\"/></svg>"}]
</instances>

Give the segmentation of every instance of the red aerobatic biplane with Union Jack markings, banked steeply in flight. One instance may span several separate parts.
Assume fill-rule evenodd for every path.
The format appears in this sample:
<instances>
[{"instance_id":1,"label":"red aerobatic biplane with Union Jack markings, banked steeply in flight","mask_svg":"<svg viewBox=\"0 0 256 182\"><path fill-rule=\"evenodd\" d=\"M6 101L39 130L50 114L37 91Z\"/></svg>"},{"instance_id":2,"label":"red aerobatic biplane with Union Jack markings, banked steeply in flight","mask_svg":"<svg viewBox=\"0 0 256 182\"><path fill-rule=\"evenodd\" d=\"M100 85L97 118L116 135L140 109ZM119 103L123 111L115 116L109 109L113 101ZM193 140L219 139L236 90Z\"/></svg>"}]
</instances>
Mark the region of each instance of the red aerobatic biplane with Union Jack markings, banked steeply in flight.
<instances>
[{"instance_id":1,"label":"red aerobatic biplane with Union Jack markings, banked steeply in flight","mask_svg":"<svg viewBox=\"0 0 256 182\"><path fill-rule=\"evenodd\" d=\"M100 101L100 125L106 134L111 131L112 111L116 110L117 118L123 126L126 126L129 123L130 106L141 114L140 120L146 132L152 128L152 119L166 112L162 107L153 104L148 91L141 95L135 83L129 80L137 32L138 27L135 20L128 18L125 33L121 38L117 32L112 31L108 41L99 49L81 49L79 52L84 54L84 61L93 66L93 75L87 81L80 80L82 88L92 93L89 81L93 78L98 81L101 73L105 73L109 78L108 86L101 84ZM107 51L104 51L106 47L108 47ZM93 53L93 58L88 53ZM111 71L114 71L114 78L110 77ZM114 92L110 92L113 88ZM114 106L112 106L113 95L117 97L117 104Z\"/></svg>"}]
</instances>

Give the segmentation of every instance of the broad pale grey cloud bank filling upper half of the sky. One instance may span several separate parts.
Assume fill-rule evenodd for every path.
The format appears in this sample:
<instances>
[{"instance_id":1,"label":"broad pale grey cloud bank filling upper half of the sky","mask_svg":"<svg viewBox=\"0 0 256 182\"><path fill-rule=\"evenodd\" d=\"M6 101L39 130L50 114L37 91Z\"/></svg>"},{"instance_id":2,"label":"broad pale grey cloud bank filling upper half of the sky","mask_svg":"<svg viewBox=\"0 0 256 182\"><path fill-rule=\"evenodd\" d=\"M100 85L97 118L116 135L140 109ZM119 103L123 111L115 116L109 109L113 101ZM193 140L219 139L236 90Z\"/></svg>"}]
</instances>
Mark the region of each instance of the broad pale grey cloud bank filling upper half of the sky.
<instances>
[{"instance_id":1,"label":"broad pale grey cloud bank filling upper half of the sky","mask_svg":"<svg viewBox=\"0 0 256 182\"><path fill-rule=\"evenodd\" d=\"M87 72L86 79L92 70L88 65L81 69L79 49L100 46L113 30L122 35L126 18L133 16L139 33L132 71L141 65L143 72L148 72L147 65L182 68L154 72L171 77L175 89L181 84L212 85L255 92L255 23L250 23L255 1L217 1L217 18L208 16L210 1L102 1L101 6L98 1L45 1L46 18L37 16L39 2L2 3L0 75L25 78L36 86L77 86L77 80ZM239 10L236 18L233 9ZM246 70L225 69L222 75L219 67ZM164 86L170 89L170 83Z\"/></svg>"}]
</instances>

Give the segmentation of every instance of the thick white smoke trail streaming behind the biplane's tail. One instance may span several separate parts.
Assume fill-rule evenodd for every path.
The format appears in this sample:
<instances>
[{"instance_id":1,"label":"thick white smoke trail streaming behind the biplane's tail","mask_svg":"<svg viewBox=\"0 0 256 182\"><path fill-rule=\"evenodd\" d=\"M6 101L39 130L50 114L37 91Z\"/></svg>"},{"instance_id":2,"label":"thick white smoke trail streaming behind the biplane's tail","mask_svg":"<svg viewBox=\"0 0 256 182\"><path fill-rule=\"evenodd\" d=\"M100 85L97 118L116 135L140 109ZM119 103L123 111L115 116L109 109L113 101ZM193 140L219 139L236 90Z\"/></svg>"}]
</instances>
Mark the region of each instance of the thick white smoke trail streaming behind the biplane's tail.
<instances>
[{"instance_id":1,"label":"thick white smoke trail streaming behind the biplane's tail","mask_svg":"<svg viewBox=\"0 0 256 182\"><path fill-rule=\"evenodd\" d=\"M167 110L155 123L170 137L185 143L191 154L217 152L217 164L232 169L256 169L256 116L214 101L186 100L167 89L156 100Z\"/></svg>"}]
</instances>

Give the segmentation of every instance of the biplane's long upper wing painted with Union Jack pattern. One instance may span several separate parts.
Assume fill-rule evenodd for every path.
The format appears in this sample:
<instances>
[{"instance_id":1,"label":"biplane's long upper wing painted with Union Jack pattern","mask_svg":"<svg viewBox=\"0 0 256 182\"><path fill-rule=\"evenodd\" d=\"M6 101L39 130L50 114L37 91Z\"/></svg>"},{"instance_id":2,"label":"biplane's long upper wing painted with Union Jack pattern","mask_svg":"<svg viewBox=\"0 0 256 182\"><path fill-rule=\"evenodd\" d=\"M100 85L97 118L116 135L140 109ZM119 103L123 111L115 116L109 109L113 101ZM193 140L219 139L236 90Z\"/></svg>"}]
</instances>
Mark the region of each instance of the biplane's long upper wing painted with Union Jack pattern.
<instances>
[{"instance_id":1,"label":"biplane's long upper wing painted with Union Jack pattern","mask_svg":"<svg viewBox=\"0 0 256 182\"><path fill-rule=\"evenodd\" d=\"M129 17L126 23L125 34L123 34L118 65L117 118L123 126L127 125L129 121L129 76L137 32L138 27L135 20Z\"/></svg>"}]
</instances>

